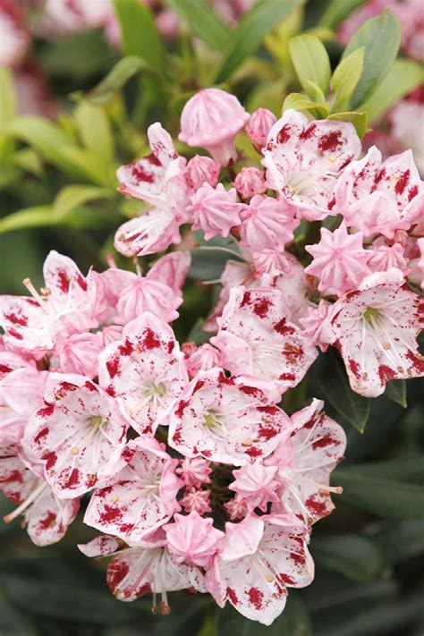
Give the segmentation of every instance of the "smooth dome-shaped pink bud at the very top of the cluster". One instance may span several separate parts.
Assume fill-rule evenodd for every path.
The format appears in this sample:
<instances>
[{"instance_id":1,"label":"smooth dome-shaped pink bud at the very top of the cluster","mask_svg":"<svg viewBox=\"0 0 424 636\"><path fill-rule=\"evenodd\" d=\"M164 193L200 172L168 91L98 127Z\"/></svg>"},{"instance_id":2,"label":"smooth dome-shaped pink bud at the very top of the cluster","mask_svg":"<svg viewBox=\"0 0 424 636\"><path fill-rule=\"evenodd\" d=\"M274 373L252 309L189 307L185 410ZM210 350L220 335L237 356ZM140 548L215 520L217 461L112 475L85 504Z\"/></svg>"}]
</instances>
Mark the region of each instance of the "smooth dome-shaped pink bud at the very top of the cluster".
<instances>
[{"instance_id":1,"label":"smooth dome-shaped pink bud at the very top of the cluster","mask_svg":"<svg viewBox=\"0 0 424 636\"><path fill-rule=\"evenodd\" d=\"M206 148L218 164L227 165L237 158L233 140L249 117L239 100L224 90L199 90L182 109L178 139Z\"/></svg>"}]
</instances>

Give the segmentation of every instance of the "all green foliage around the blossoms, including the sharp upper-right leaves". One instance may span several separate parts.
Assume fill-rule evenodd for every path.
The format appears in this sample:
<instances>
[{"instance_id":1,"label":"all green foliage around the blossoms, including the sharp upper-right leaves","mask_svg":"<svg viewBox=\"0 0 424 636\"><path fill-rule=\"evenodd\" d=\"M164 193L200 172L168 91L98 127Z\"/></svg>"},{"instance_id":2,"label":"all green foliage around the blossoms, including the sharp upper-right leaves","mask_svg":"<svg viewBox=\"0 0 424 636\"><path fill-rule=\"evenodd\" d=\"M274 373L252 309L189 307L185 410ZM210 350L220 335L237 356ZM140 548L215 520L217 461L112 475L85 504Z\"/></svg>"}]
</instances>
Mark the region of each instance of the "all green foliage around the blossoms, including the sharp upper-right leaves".
<instances>
[{"instance_id":1,"label":"all green foliage around the blossoms, including the sharp upper-right leaves","mask_svg":"<svg viewBox=\"0 0 424 636\"><path fill-rule=\"evenodd\" d=\"M234 30L205 0L169 0L182 18L174 42L158 36L151 13L137 0L114 4L123 55L100 31L36 42L33 55L60 100L55 122L17 114L10 73L0 72L2 293L22 293L21 280L29 275L39 286L52 248L84 271L91 264L106 267L115 228L140 209L140 202L116 191L116 167L146 153L148 123L159 120L175 134L182 106L196 89L229 89L248 110L266 106L279 114L284 103L314 117L345 119L362 135L423 78L418 64L396 59L401 32L388 13L340 49L334 30L360 0L260 0ZM258 162L245 136L237 142L246 163ZM310 234L300 233L299 249L308 240ZM225 260L218 252L193 257L176 331L199 341L199 319L216 289L198 281L219 276ZM143 260L146 266L149 259ZM171 595L169 617L151 615L148 598L116 601L106 588L106 564L75 547L94 535L80 515L64 541L47 548L34 547L19 522L0 523L2 636L420 636L422 384L391 383L370 401L352 394L343 365L329 351L308 380L284 396L284 408L295 411L310 396L322 397L346 429L346 459L333 478L344 492L335 496L335 513L314 529L316 580L290 594L273 626L250 623L230 606L217 610L206 595ZM0 512L10 508L0 498Z\"/></svg>"}]
</instances>

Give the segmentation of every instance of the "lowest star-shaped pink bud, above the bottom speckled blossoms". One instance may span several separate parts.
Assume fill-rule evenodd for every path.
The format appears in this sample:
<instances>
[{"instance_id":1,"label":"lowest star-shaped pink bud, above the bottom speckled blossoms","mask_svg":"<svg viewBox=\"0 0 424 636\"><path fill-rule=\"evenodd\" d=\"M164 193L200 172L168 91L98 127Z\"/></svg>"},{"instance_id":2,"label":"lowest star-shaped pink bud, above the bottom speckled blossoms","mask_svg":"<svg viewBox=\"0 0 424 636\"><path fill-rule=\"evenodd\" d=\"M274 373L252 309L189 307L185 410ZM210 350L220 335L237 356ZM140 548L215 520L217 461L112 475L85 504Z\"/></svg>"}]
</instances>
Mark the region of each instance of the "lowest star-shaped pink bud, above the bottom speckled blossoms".
<instances>
[{"instance_id":1,"label":"lowest star-shaped pink bud, above the bottom speckled blossoms","mask_svg":"<svg viewBox=\"0 0 424 636\"><path fill-rule=\"evenodd\" d=\"M218 551L224 532L216 530L213 519L204 519L192 510L190 514L174 514L174 523L164 526L167 547L175 563L208 567Z\"/></svg>"}]
</instances>

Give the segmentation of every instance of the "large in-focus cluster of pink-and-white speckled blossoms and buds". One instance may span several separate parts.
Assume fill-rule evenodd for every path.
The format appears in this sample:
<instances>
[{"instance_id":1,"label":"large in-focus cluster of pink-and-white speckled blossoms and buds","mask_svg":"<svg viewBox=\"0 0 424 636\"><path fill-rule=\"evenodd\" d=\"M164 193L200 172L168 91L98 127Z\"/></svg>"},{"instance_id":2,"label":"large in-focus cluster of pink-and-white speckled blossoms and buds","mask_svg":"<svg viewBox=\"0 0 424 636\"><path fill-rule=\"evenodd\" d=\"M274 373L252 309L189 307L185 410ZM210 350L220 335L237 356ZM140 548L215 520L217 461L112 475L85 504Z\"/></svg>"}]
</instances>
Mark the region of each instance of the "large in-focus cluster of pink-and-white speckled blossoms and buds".
<instances>
[{"instance_id":1,"label":"large in-focus cluster of pink-and-white speckled blossoms and buds","mask_svg":"<svg viewBox=\"0 0 424 636\"><path fill-rule=\"evenodd\" d=\"M310 534L341 492L329 484L346 443L320 400L289 416L282 397L329 345L363 395L422 375L423 187L410 152L360 158L352 123L250 115L219 89L191 98L181 123L210 157L179 156L154 123L151 154L118 170L144 202L114 240L135 273L111 258L83 276L51 252L40 292L27 279L30 296L0 299L0 488L18 505L6 521L22 513L39 546L89 494L84 522L101 534L80 549L111 557L116 598L152 593L157 611L160 595L167 614L167 592L191 589L270 624L313 579ZM209 342L180 347L190 253L144 275L137 257L182 235L194 245L192 231L234 259Z\"/></svg>"}]
</instances>

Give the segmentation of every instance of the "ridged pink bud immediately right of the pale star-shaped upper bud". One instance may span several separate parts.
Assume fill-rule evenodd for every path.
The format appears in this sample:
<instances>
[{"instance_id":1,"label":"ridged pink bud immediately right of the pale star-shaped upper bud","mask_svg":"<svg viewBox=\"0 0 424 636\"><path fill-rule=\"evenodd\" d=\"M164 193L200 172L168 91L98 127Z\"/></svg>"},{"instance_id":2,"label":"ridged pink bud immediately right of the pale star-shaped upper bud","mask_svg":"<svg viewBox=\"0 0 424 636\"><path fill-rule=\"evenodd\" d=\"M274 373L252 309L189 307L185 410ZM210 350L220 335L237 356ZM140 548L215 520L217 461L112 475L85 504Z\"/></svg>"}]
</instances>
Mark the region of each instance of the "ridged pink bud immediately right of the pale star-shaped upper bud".
<instances>
[{"instance_id":1,"label":"ridged pink bud immediately right of the pale star-shaped upper bud","mask_svg":"<svg viewBox=\"0 0 424 636\"><path fill-rule=\"evenodd\" d=\"M293 229L298 225L284 200L253 197L249 207L242 210L241 245L254 254L282 250L285 243L293 241Z\"/></svg>"}]
</instances>

